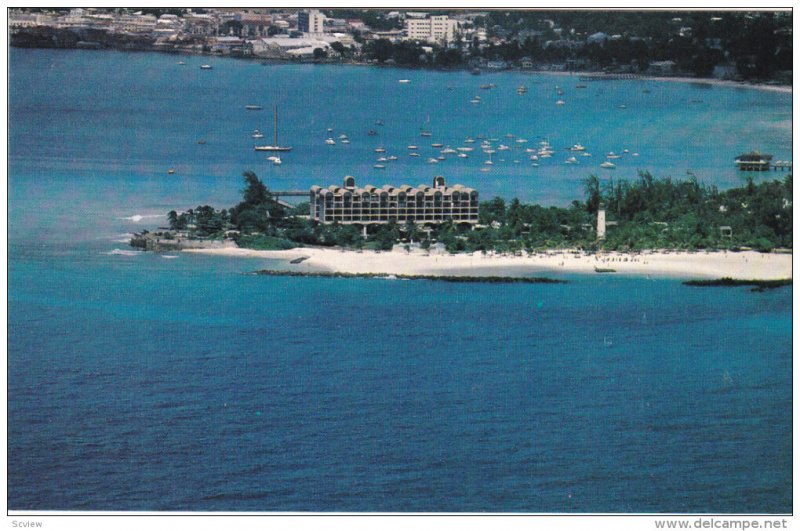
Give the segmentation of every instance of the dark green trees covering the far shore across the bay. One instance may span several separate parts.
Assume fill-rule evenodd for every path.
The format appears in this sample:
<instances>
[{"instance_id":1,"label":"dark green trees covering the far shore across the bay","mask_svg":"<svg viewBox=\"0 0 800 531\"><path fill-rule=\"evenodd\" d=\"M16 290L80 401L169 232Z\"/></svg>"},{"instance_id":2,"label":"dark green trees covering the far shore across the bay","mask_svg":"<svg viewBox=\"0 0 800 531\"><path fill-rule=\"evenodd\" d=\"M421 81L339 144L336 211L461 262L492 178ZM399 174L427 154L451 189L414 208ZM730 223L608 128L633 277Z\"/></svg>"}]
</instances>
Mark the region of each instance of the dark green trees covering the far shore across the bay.
<instances>
[{"instance_id":1,"label":"dark green trees covering the far shore across the bay","mask_svg":"<svg viewBox=\"0 0 800 531\"><path fill-rule=\"evenodd\" d=\"M455 14L455 12L443 12ZM397 29L398 18L374 10L351 10L375 29ZM366 18L365 18L366 17ZM400 65L451 67L469 59L518 61L530 57L541 63L584 60L599 68L633 65L645 70L653 61L675 61L681 71L710 76L716 65L732 62L746 79L766 79L792 69L791 12L745 11L490 11L473 27L484 28L502 41L479 48L477 41L433 46L425 54L421 44L386 39L368 41L367 59ZM556 33L554 28L560 28ZM587 42L595 33L608 37ZM546 46L548 41L585 43L575 48Z\"/></svg>"}]
</instances>

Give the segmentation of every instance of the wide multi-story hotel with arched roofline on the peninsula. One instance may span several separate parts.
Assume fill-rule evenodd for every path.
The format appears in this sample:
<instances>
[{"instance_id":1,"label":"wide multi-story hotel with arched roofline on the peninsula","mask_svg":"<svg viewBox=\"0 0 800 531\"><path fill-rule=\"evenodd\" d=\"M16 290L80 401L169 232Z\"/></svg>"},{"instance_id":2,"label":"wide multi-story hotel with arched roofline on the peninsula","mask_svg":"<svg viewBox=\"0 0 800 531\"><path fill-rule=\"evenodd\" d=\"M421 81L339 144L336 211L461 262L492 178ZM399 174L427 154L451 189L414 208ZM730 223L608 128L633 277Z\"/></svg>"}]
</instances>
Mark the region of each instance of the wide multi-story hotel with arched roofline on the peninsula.
<instances>
[{"instance_id":1,"label":"wide multi-story hotel with arched roofline on the peninsula","mask_svg":"<svg viewBox=\"0 0 800 531\"><path fill-rule=\"evenodd\" d=\"M341 187L312 186L310 199L311 219L320 223L478 223L478 192L460 184L447 186L441 176L433 178L433 186L381 188L357 187L355 178L347 176Z\"/></svg>"}]
</instances>

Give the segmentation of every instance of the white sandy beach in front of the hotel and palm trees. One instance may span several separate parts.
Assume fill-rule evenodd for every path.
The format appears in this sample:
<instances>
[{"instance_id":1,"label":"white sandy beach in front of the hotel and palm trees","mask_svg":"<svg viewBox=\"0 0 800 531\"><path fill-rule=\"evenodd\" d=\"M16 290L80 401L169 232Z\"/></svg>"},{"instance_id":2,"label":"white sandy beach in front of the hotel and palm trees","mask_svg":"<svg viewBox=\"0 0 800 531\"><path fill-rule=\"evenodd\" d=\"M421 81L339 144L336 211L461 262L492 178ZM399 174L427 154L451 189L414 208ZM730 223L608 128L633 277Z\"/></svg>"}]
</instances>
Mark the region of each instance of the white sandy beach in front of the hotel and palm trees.
<instances>
[{"instance_id":1,"label":"white sandy beach in front of the hotel and palm trees","mask_svg":"<svg viewBox=\"0 0 800 531\"><path fill-rule=\"evenodd\" d=\"M595 268L614 269L616 275L747 280L792 278L791 254L744 252L643 252L640 254L600 253L587 255L550 251L532 256L473 254L430 254L405 251L344 251L341 249L298 248L288 251L251 249L192 249L184 252L223 256L279 259L294 271L329 271L354 274L530 276L548 272L597 274ZM307 257L299 264L291 260Z\"/></svg>"}]
</instances>

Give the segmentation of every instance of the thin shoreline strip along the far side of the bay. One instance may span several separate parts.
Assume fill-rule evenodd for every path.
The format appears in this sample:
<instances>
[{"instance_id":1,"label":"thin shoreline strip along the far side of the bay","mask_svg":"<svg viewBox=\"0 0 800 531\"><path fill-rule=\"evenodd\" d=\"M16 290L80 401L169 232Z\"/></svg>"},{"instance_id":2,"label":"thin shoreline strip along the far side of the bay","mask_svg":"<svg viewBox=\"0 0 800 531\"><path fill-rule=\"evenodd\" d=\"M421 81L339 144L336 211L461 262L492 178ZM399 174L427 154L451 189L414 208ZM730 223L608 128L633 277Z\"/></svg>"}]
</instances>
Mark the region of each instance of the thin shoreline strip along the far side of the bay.
<instances>
[{"instance_id":1,"label":"thin shoreline strip along the far side of the bay","mask_svg":"<svg viewBox=\"0 0 800 531\"><path fill-rule=\"evenodd\" d=\"M256 56L225 56L225 55L214 55L207 52L200 52L195 50L147 50L147 49L123 49L123 48L103 48L103 49L80 49L80 48L58 48L58 47L48 47L48 48L41 48L41 47L25 47L25 46L11 46L11 48L20 48L20 49L40 49L40 50L80 50L80 51L95 51L95 52L104 52L104 51L117 51L117 52L137 52L137 53L157 53L157 54L164 54L164 55L176 55L176 56L194 56L194 57L203 57L203 58L213 58L213 59L237 59L243 61L261 61L261 62L269 62L275 65L289 65L289 64L302 64L302 65L330 65L330 66L361 66L361 67L375 67L375 68L393 68L397 70L430 70L434 72L465 72L470 71L472 68L468 66L459 66L456 68L435 68L435 67L428 67L428 66L404 66L404 65L387 65L381 63L367 63L363 61L303 61L297 60L293 58L281 58L281 57L256 57ZM613 81L614 75L618 74L610 74L607 79L603 79L603 72L597 71L554 71L554 70L536 70L536 69L521 69L521 68L507 68L507 69L498 69L498 70L486 70L481 69L481 75L491 75L491 74L500 74L500 73L522 73L522 74L534 74L534 75L550 75L550 76L562 76L562 77L578 77L578 76L598 76L599 79L594 82L603 82L603 81ZM651 82L659 82L664 81L668 83L702 83L708 84L718 87L728 87L728 88L745 88L745 89L753 89L753 90L763 90L767 92L779 92L783 94L792 94L792 85L770 85L763 82L752 82L752 81L733 81L728 79L717 79L717 78L706 78L706 77L682 77L682 76L654 76L654 75L641 75L633 78L633 79L625 79L625 81L651 81Z\"/></svg>"}]
</instances>

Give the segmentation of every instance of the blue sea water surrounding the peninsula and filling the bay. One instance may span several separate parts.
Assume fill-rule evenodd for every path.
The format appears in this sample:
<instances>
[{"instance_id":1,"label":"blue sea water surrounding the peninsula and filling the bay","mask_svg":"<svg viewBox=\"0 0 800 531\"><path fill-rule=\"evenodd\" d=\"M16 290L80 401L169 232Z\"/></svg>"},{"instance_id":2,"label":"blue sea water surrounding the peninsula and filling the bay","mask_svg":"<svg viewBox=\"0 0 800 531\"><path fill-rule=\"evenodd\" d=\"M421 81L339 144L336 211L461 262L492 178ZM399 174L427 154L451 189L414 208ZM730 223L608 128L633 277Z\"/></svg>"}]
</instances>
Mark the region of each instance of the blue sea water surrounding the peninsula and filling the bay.
<instances>
[{"instance_id":1,"label":"blue sea water surrounding the peninsula and filling the bay","mask_svg":"<svg viewBox=\"0 0 800 531\"><path fill-rule=\"evenodd\" d=\"M435 173L566 204L628 148L615 178L734 186L740 151L790 158L790 95L184 59L10 52L10 509L791 511L791 289L258 277L280 264L124 243L234 204L248 168L275 189ZM249 137L275 102L280 168ZM594 162L434 168L403 156L428 115L433 141L511 132ZM378 143L400 156L383 173Z\"/></svg>"}]
</instances>

